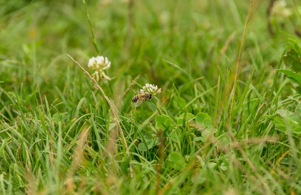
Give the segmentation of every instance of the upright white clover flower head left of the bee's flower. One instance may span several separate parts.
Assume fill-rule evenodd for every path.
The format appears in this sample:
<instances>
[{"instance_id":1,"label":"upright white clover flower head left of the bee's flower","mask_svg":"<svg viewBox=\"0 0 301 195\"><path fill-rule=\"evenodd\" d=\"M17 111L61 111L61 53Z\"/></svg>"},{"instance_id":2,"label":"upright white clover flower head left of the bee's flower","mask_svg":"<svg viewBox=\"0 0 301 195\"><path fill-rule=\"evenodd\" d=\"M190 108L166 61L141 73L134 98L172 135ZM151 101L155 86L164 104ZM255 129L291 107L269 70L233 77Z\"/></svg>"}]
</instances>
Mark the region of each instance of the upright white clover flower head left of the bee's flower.
<instances>
[{"instance_id":1,"label":"upright white clover flower head left of the bee's flower","mask_svg":"<svg viewBox=\"0 0 301 195\"><path fill-rule=\"evenodd\" d=\"M103 56L92 57L89 60L88 67L95 71L91 76L95 77L97 81L99 81L99 79L102 78L107 80L110 79L110 77L108 77L104 73L104 70L111 67L111 62L108 60L107 57L103 57Z\"/></svg>"}]
</instances>

